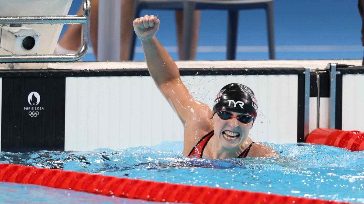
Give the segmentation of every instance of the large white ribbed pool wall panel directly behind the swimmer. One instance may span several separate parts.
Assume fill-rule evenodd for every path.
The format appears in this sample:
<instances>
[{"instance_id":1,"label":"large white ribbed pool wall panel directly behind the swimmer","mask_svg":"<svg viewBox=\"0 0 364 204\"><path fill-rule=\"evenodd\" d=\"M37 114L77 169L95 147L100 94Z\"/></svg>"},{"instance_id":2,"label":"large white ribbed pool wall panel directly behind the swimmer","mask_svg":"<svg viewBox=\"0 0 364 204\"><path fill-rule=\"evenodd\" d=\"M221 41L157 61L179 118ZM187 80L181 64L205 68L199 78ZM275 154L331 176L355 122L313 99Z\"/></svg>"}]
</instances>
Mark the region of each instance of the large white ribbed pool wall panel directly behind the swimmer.
<instances>
[{"instance_id":1,"label":"large white ribbed pool wall panel directly behind the swimmer","mask_svg":"<svg viewBox=\"0 0 364 204\"><path fill-rule=\"evenodd\" d=\"M249 86L259 102L255 141L297 142L297 75L182 76L209 105L228 83ZM184 128L149 76L66 77L65 150L121 149L182 141Z\"/></svg>"}]
</instances>

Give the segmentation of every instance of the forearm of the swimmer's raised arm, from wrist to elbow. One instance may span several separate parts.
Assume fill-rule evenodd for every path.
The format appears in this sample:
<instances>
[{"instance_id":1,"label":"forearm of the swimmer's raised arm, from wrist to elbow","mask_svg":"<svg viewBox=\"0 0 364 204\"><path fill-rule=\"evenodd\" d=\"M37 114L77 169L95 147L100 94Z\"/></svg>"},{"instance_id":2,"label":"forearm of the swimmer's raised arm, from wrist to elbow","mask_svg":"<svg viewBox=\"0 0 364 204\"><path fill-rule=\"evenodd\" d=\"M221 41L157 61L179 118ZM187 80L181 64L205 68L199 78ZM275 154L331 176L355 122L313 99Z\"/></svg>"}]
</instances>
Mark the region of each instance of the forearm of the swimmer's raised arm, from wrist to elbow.
<instances>
[{"instance_id":1,"label":"forearm of the swimmer's raised arm, from wrist to elbow","mask_svg":"<svg viewBox=\"0 0 364 204\"><path fill-rule=\"evenodd\" d=\"M157 85L180 78L179 70L155 36L142 40L148 70Z\"/></svg>"}]
</instances>

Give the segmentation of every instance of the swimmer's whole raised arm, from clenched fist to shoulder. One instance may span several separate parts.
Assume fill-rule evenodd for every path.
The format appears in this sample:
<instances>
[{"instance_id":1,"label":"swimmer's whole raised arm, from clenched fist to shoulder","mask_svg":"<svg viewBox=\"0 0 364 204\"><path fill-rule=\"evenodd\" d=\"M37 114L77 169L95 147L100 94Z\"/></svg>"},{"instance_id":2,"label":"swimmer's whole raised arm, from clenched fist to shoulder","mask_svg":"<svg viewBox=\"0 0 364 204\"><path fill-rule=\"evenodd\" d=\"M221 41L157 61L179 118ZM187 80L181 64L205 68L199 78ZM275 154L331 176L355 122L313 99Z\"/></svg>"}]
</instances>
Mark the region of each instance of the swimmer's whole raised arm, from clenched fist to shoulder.
<instances>
[{"instance_id":1,"label":"swimmer's whole raised arm, from clenched fist to shoulder","mask_svg":"<svg viewBox=\"0 0 364 204\"><path fill-rule=\"evenodd\" d=\"M177 65L155 37L159 23L159 19L153 15L145 15L133 21L134 31L142 41L151 77L184 126L188 118L211 117L211 110L206 104L193 100L181 81ZM206 127L209 128L210 126Z\"/></svg>"}]
</instances>

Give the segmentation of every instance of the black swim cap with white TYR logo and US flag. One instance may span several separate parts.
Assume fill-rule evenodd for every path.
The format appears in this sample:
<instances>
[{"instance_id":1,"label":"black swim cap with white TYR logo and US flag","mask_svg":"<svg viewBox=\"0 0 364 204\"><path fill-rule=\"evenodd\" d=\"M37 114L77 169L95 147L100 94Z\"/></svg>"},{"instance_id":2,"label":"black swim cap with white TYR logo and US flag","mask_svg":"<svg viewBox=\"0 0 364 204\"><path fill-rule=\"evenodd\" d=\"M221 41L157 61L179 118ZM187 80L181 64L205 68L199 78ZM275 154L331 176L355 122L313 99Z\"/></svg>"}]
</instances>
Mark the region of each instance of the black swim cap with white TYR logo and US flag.
<instances>
[{"instance_id":1,"label":"black swim cap with white TYR logo and US flag","mask_svg":"<svg viewBox=\"0 0 364 204\"><path fill-rule=\"evenodd\" d=\"M258 101L248 86L240 83L230 83L217 93L212 109L213 114L219 110L245 113L257 117Z\"/></svg>"}]
</instances>

